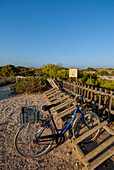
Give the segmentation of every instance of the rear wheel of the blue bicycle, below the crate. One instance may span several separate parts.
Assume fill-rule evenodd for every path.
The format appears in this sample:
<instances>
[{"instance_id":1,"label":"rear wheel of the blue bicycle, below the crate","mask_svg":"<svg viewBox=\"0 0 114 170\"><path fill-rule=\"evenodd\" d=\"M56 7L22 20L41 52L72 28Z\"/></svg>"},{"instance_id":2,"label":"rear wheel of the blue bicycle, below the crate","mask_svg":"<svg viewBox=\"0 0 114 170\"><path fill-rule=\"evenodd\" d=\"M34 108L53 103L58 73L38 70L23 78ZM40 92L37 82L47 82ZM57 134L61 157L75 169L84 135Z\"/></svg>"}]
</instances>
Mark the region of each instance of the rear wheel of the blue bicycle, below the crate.
<instances>
[{"instance_id":1,"label":"rear wheel of the blue bicycle, below the crate","mask_svg":"<svg viewBox=\"0 0 114 170\"><path fill-rule=\"evenodd\" d=\"M34 144L33 140L36 139L36 135L41 133L45 125L42 123L27 123L22 125L16 136L15 136L15 148L19 154L24 157L36 158L45 154L51 147L53 141L40 142L39 144ZM54 134L54 129L49 125L41 134L52 135Z\"/></svg>"}]
</instances>

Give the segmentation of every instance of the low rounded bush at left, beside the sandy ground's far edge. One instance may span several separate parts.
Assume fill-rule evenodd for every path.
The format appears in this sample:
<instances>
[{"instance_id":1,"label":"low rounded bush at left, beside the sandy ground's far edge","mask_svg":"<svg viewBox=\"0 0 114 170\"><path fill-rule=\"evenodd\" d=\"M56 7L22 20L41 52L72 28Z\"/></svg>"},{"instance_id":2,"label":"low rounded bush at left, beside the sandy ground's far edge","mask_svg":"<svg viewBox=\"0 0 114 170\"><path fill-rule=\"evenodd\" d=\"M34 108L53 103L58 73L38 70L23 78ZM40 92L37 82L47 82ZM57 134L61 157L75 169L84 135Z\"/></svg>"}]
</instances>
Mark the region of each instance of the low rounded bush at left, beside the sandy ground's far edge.
<instances>
[{"instance_id":1,"label":"low rounded bush at left, beside the sandy ground's far edge","mask_svg":"<svg viewBox=\"0 0 114 170\"><path fill-rule=\"evenodd\" d=\"M29 77L20 79L15 85L11 85L11 90L17 93L34 93L44 91L47 87L47 80L44 77Z\"/></svg>"}]
</instances>

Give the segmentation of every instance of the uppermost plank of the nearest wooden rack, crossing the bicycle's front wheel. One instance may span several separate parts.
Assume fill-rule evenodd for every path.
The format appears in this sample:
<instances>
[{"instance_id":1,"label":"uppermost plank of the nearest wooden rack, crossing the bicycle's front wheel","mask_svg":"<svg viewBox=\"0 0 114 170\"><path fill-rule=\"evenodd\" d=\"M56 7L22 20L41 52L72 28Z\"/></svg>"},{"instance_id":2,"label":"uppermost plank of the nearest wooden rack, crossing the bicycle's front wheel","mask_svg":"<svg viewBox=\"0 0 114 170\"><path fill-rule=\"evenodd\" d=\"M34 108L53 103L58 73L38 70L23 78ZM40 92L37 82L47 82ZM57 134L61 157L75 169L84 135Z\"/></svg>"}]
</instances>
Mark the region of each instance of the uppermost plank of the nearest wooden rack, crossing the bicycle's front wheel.
<instances>
[{"instance_id":1,"label":"uppermost plank of the nearest wooden rack, crossing the bicycle's front wheel","mask_svg":"<svg viewBox=\"0 0 114 170\"><path fill-rule=\"evenodd\" d=\"M101 124L97 125L96 127L92 128L91 130L89 130L88 132L84 133L83 135L81 135L80 137L78 137L75 142L75 144L78 144L79 142L83 141L85 138L87 138L88 136L90 136L92 133L96 132L97 130L101 129L104 125L108 124L107 121L102 122Z\"/></svg>"}]
</instances>

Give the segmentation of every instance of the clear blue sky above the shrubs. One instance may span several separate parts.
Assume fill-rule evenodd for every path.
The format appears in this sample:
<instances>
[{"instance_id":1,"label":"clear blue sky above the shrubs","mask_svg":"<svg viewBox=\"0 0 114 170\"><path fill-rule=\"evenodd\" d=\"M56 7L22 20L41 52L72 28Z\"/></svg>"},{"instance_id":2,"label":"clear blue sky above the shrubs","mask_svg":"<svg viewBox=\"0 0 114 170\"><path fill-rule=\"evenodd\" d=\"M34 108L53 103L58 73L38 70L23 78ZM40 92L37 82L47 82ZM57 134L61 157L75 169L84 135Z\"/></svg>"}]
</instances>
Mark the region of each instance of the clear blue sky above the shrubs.
<instances>
[{"instance_id":1,"label":"clear blue sky above the shrubs","mask_svg":"<svg viewBox=\"0 0 114 170\"><path fill-rule=\"evenodd\" d=\"M114 67L114 0L0 0L0 65Z\"/></svg>"}]
</instances>

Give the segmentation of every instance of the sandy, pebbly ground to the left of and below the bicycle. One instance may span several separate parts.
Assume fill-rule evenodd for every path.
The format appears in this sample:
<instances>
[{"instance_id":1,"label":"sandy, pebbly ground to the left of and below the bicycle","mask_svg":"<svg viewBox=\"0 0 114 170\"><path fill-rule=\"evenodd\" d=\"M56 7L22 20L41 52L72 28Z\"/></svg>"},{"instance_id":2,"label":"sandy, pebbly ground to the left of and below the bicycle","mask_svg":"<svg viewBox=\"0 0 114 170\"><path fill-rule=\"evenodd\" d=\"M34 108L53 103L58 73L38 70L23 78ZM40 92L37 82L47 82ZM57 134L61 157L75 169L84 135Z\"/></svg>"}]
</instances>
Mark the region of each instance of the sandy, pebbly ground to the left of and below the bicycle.
<instances>
[{"instance_id":1,"label":"sandy, pebbly ground to the left of and below the bicycle","mask_svg":"<svg viewBox=\"0 0 114 170\"><path fill-rule=\"evenodd\" d=\"M42 94L10 95L9 86L0 87L0 169L79 169L77 155L66 141L58 148L37 159L21 157L14 148L14 136L19 124L19 113L25 105L46 104Z\"/></svg>"}]
</instances>

